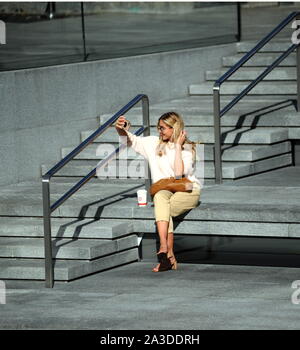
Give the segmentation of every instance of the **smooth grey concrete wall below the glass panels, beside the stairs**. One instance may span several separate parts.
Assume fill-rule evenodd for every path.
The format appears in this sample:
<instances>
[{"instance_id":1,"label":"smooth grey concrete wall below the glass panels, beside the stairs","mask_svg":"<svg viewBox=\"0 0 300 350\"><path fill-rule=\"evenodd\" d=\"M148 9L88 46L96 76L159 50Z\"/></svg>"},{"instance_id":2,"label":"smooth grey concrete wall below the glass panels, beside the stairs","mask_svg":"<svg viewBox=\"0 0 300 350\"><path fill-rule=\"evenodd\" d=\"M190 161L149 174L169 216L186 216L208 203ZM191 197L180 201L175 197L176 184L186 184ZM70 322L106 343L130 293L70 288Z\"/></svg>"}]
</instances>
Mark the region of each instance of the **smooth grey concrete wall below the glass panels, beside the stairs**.
<instances>
[{"instance_id":1,"label":"smooth grey concrete wall below the glass panels, beside the stairs","mask_svg":"<svg viewBox=\"0 0 300 350\"><path fill-rule=\"evenodd\" d=\"M0 73L0 185L40 178L97 116L139 93L150 103L185 96L235 44Z\"/></svg>"}]
</instances>

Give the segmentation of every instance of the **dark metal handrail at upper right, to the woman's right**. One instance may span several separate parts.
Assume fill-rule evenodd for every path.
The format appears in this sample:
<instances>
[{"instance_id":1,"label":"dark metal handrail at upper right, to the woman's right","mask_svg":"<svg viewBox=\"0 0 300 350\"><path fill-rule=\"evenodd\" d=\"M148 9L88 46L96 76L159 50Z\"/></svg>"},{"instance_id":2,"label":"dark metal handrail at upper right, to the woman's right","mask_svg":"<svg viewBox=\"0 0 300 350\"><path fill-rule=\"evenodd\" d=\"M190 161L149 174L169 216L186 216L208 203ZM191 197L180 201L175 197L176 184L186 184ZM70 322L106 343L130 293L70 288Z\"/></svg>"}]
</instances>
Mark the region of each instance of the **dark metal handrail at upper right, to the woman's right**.
<instances>
[{"instance_id":1,"label":"dark metal handrail at upper right, to the woman's right","mask_svg":"<svg viewBox=\"0 0 300 350\"><path fill-rule=\"evenodd\" d=\"M264 47L271 39L273 39L281 30L283 30L293 19L299 18L300 12L293 12L287 16L279 25L277 25L268 35L266 35L259 43L248 53L246 53L233 67L216 80L213 86L213 104L214 104L214 164L216 183L222 183L222 156L221 156L221 117L235 106L244 96L246 96L267 74L277 67L291 52L297 48L297 67L300 65L300 49L299 44L291 45L280 57L278 57L270 66L268 66L256 79L254 79L238 96L229 102L222 110L220 108L220 87L228 80L239 68L250 60L262 47ZM299 67L298 67L299 68ZM297 70L297 109L300 112L300 74Z\"/></svg>"}]
</instances>

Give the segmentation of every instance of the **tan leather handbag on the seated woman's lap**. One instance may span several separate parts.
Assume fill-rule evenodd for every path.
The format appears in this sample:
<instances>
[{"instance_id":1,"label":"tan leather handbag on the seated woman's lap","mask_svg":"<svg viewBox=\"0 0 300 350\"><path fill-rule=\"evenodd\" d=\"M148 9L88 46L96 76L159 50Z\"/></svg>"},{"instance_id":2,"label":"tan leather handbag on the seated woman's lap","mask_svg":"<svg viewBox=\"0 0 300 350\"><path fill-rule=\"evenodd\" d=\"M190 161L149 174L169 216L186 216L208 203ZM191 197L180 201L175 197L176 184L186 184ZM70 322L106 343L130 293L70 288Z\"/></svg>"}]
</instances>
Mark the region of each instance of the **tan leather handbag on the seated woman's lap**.
<instances>
[{"instance_id":1,"label":"tan leather handbag on the seated woman's lap","mask_svg":"<svg viewBox=\"0 0 300 350\"><path fill-rule=\"evenodd\" d=\"M192 192L193 183L186 177L181 179L175 179L175 177L169 177L161 179L150 186L150 194L154 196L158 191L167 190L170 192Z\"/></svg>"}]
</instances>

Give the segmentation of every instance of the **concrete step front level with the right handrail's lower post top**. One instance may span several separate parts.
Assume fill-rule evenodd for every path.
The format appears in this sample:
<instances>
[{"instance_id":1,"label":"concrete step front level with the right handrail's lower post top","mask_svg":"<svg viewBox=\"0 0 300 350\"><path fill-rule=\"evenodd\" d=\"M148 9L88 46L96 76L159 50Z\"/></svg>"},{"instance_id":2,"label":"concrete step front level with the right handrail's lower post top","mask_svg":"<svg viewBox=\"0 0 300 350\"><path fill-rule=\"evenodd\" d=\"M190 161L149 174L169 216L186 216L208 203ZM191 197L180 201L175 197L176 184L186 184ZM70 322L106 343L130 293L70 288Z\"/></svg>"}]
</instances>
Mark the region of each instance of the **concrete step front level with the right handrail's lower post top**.
<instances>
[{"instance_id":1,"label":"concrete step front level with the right handrail's lower post top","mask_svg":"<svg viewBox=\"0 0 300 350\"><path fill-rule=\"evenodd\" d=\"M201 84L192 84L189 86L190 95L211 95L213 93L213 82L205 82ZM222 85L221 94L238 95L249 83L241 81L229 81ZM296 82L290 81L262 81L256 85L250 92L250 95L290 95L296 94Z\"/></svg>"}]
</instances>

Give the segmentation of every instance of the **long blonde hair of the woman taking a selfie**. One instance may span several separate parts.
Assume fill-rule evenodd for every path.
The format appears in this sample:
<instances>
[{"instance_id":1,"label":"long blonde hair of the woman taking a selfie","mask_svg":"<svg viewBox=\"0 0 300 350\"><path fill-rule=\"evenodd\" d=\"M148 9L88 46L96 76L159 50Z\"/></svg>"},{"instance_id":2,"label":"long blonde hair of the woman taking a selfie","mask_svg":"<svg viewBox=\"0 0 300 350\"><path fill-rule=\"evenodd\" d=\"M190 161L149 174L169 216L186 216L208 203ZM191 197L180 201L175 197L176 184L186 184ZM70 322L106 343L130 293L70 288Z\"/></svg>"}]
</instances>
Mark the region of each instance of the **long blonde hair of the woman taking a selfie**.
<instances>
[{"instance_id":1,"label":"long blonde hair of the woman taking a selfie","mask_svg":"<svg viewBox=\"0 0 300 350\"><path fill-rule=\"evenodd\" d=\"M164 113L157 121L157 128L159 128L159 126L160 126L159 125L160 121L163 121L170 128L173 128L173 134L171 136L170 141L175 143L177 141L181 131L184 130L184 122L183 122L182 117L176 112ZM166 149L166 145L168 142L169 142L169 140L164 141L161 136L159 137L159 143L158 143L158 146L156 149L157 155L159 155L161 157L163 154L165 154L165 152L166 152L165 149ZM196 156L196 150L195 150L196 143L192 142L186 138L183 145L185 145L185 144L189 145L187 148L189 148L189 147L192 148L193 158L195 158L195 156ZM183 145L182 145L182 149L184 148Z\"/></svg>"}]
</instances>

